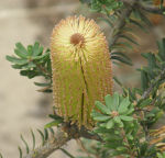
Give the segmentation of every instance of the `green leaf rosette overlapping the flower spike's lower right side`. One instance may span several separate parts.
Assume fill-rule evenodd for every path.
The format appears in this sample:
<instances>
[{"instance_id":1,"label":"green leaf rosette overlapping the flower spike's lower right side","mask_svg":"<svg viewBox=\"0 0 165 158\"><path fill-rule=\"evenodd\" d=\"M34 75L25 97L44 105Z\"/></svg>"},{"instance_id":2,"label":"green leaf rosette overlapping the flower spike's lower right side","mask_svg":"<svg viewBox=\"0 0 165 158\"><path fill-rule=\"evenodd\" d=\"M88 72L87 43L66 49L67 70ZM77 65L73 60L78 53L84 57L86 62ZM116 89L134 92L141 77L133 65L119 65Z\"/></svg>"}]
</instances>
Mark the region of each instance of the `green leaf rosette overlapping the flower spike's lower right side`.
<instances>
[{"instance_id":1,"label":"green leaf rosette overlapping the flower spike's lower right side","mask_svg":"<svg viewBox=\"0 0 165 158\"><path fill-rule=\"evenodd\" d=\"M100 135L105 147L111 149L111 156L129 155L134 153L133 144L138 139L140 125L132 116L134 105L129 98L119 93L105 97L106 105L96 101L98 111L92 111L91 116L97 121L95 133Z\"/></svg>"}]
</instances>

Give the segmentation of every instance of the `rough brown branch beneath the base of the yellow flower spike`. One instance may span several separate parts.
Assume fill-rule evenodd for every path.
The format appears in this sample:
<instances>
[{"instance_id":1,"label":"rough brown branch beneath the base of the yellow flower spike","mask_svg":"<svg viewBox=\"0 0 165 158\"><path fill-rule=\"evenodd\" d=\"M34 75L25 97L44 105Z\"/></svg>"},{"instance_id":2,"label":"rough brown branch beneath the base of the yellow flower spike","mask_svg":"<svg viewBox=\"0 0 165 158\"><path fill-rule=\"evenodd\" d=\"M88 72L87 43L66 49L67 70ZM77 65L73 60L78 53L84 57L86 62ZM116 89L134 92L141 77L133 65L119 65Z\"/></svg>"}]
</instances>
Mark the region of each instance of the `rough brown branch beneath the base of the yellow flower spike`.
<instances>
[{"instance_id":1,"label":"rough brown branch beneath the base of the yellow flower spike","mask_svg":"<svg viewBox=\"0 0 165 158\"><path fill-rule=\"evenodd\" d=\"M52 153L64 146L70 139L77 139L79 137L102 142L99 136L88 133L85 127L81 127L79 129L76 125L69 125L66 123L62 127L57 128L55 135L50 137L44 146L31 150L30 154L28 154L23 158L46 158Z\"/></svg>"}]
</instances>

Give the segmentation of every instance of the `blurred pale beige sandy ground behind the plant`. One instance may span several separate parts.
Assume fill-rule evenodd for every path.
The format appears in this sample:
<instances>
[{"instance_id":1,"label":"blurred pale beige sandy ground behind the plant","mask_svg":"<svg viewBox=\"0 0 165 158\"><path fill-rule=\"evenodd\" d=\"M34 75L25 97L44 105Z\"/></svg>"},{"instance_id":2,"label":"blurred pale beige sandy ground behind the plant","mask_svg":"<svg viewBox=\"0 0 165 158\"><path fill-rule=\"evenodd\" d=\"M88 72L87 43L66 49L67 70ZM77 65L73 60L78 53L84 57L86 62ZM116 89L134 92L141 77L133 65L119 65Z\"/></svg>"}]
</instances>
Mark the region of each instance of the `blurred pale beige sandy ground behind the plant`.
<instances>
[{"instance_id":1,"label":"blurred pale beige sandy ground behind the plant","mask_svg":"<svg viewBox=\"0 0 165 158\"><path fill-rule=\"evenodd\" d=\"M16 42L29 45L37 40L47 47L54 24L74 13L87 14L86 10L79 7L78 0L0 1L0 153L4 158L19 157L18 145L23 146L20 134L31 142L30 128L36 132L36 128L43 128L50 122L47 114L51 113L52 105L51 97L38 93L37 87L33 84L34 80L21 77L18 70L12 69L10 63L6 60L6 55L13 54ZM141 49L155 49L155 40L165 35L164 29L164 24L157 26L147 36L140 32ZM133 60L139 58L141 49L135 49ZM144 61L140 59L134 67L140 67L141 63ZM123 69L127 69L124 74ZM138 78L136 74L132 76L132 69L128 66L123 69L114 68L113 72L118 74L119 78L122 77L125 83L129 84L131 80ZM133 84L136 82L131 86ZM73 140L68 148L75 150L76 143ZM66 156L56 151L50 158L66 158Z\"/></svg>"}]
</instances>

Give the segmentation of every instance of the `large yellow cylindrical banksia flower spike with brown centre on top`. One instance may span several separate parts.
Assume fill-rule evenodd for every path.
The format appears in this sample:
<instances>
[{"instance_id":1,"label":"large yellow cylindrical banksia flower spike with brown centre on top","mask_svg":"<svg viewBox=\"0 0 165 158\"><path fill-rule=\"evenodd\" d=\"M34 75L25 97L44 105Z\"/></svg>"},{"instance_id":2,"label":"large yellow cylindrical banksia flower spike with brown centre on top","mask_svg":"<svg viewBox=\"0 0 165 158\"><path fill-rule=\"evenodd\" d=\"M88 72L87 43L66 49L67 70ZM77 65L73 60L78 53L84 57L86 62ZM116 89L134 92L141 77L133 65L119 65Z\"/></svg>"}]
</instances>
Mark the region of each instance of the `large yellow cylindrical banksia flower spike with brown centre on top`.
<instances>
[{"instance_id":1,"label":"large yellow cylindrical banksia flower spike with brown centre on top","mask_svg":"<svg viewBox=\"0 0 165 158\"><path fill-rule=\"evenodd\" d=\"M69 16L53 30L53 98L66 121L90 127L95 101L112 94L112 71L105 35L94 20Z\"/></svg>"}]
</instances>

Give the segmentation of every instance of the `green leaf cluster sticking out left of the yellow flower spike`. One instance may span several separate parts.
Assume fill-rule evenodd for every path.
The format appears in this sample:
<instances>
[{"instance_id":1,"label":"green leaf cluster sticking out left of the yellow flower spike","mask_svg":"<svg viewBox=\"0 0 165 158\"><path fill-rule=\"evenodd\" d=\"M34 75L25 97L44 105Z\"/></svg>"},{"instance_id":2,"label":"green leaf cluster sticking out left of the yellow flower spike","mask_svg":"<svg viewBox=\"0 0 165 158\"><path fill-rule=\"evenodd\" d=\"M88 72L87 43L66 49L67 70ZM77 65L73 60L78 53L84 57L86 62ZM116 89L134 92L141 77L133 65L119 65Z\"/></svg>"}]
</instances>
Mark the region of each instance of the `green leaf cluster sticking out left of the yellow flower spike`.
<instances>
[{"instance_id":1,"label":"green leaf cluster sticking out left of the yellow flower spike","mask_svg":"<svg viewBox=\"0 0 165 158\"><path fill-rule=\"evenodd\" d=\"M21 76L29 79L42 76L46 79L46 83L34 82L42 87L41 91L52 92L52 68L50 59L50 49L44 48L35 42L25 48L21 43L15 44L14 56L7 56L7 60L12 64L12 68L19 69Z\"/></svg>"}]
</instances>

